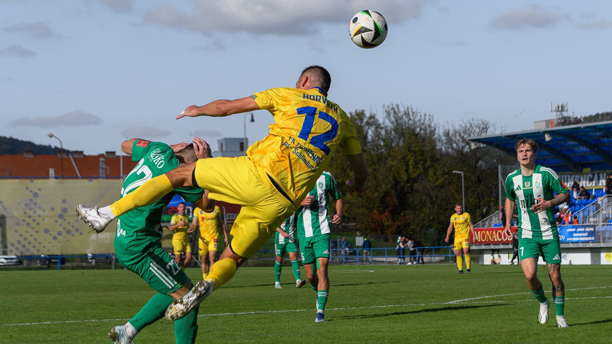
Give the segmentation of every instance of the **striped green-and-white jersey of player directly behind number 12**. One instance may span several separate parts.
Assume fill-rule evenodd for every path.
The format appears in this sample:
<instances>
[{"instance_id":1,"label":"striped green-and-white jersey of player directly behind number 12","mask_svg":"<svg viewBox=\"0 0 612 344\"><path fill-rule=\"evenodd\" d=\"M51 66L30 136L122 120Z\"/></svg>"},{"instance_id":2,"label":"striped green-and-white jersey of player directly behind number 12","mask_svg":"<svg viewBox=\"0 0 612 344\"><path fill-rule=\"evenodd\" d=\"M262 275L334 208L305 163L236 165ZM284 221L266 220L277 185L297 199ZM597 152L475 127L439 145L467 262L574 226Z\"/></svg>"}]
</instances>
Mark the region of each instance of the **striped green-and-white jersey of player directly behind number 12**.
<instances>
[{"instance_id":1,"label":"striped green-and-white jersey of player directly behind number 12","mask_svg":"<svg viewBox=\"0 0 612 344\"><path fill-rule=\"evenodd\" d=\"M304 206L297 215L297 237L303 239L321 234L329 234L329 220L327 219L327 208L329 200L327 195L340 200L340 190L332 174L325 171L316 180L315 188L308 192L308 196L314 196L315 200L310 206Z\"/></svg>"}]
</instances>

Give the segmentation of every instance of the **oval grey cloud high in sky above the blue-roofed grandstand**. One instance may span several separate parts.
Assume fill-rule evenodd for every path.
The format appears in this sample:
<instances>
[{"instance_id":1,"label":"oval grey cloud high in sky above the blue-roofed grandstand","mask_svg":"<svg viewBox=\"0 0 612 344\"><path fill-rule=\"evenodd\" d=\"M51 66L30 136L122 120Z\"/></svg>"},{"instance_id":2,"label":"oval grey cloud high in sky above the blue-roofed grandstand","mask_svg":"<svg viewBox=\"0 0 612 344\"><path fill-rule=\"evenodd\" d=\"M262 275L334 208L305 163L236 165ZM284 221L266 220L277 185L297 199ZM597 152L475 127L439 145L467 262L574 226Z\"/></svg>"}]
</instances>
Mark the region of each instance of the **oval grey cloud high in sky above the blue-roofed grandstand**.
<instances>
[{"instance_id":1,"label":"oval grey cloud high in sky above the blue-roofed grandstand","mask_svg":"<svg viewBox=\"0 0 612 344\"><path fill-rule=\"evenodd\" d=\"M563 21L570 21L567 13L529 5L493 18L491 26L496 29L551 28Z\"/></svg>"}]
</instances>

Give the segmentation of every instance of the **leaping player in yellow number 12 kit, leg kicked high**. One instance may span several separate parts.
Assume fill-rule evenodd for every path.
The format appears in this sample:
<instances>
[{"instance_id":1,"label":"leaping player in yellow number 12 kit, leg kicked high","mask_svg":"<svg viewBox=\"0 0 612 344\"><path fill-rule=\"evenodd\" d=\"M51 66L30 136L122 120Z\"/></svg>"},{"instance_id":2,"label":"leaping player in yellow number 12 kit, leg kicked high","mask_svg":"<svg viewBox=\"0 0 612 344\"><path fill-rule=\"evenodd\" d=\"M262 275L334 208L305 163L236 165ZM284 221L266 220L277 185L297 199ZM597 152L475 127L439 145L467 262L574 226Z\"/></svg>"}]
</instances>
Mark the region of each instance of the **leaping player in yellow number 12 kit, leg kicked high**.
<instances>
[{"instance_id":1,"label":"leaping player in yellow number 12 kit, leg kicked high","mask_svg":"<svg viewBox=\"0 0 612 344\"><path fill-rule=\"evenodd\" d=\"M185 108L177 119L267 110L274 122L268 135L250 146L246 156L209 158L179 166L110 206L90 209L86 216L89 225L102 231L114 217L146 206L177 187L202 187L210 191L211 200L242 206L231 229L233 239L207 279L173 302L166 318L182 318L228 282L237 267L274 234L313 189L337 148L353 168L353 178L346 184L364 189L368 170L356 130L345 111L327 99L330 84L329 72L312 65L302 70L295 88L273 88Z\"/></svg>"}]
</instances>

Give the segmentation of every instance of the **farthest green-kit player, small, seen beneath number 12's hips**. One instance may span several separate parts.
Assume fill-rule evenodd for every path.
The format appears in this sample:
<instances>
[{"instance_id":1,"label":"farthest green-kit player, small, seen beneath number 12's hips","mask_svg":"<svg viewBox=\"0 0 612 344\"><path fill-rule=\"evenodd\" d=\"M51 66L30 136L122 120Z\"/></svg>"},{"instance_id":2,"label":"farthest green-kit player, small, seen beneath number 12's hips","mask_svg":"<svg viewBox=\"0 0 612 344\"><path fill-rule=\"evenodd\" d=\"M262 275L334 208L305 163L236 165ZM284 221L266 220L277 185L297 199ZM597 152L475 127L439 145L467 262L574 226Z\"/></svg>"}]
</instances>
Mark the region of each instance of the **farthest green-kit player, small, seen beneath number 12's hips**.
<instances>
[{"instance_id":1,"label":"farthest green-kit player, small, seen beneath number 12's hips","mask_svg":"<svg viewBox=\"0 0 612 344\"><path fill-rule=\"evenodd\" d=\"M302 288L306 284L305 280L300 279L300 266L297 263L297 240L296 240L296 217L297 211L289 216L285 222L281 223L274 234L274 251L276 252L276 261L274 262L274 288L281 289L280 286L280 271L283 266L283 258L285 252L291 260L293 267L293 277L296 278L296 288Z\"/></svg>"}]
</instances>

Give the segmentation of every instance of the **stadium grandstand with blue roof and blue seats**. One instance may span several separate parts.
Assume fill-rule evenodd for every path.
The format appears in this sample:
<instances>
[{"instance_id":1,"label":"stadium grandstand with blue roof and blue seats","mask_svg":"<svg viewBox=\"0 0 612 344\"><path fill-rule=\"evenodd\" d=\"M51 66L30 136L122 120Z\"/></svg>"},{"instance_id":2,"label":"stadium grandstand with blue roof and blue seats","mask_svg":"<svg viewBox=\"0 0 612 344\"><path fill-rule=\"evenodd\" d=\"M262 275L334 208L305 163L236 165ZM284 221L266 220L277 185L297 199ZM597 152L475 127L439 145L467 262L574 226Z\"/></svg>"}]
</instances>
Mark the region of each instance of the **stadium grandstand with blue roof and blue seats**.
<instances>
[{"instance_id":1,"label":"stadium grandstand with blue roof and blue seats","mask_svg":"<svg viewBox=\"0 0 612 344\"><path fill-rule=\"evenodd\" d=\"M515 157L515 143L531 138L538 144L536 163L552 168L567 187L577 182L588 190L588 198L571 199L567 210L572 214L570 224L559 226L559 236L564 255L574 264L597 264L612 258L612 195L605 194L606 175L612 173L612 121L578 123L555 120L535 122L536 129L525 132L502 133L472 137L472 144L484 144ZM544 125L542 125L544 123ZM568 125L569 123L569 125ZM499 166L499 206L504 204L506 176L518 168ZM555 212L559 212L556 207ZM496 261L508 263L511 254L510 240L501 232L501 210L476 223L479 244L473 249L490 250ZM481 263L483 256L480 255ZM506 259L507 258L507 259ZM488 260L487 260L488 261ZM493 259L491 260L493 261ZM566 263L566 262L564 262Z\"/></svg>"}]
</instances>

